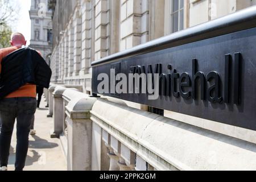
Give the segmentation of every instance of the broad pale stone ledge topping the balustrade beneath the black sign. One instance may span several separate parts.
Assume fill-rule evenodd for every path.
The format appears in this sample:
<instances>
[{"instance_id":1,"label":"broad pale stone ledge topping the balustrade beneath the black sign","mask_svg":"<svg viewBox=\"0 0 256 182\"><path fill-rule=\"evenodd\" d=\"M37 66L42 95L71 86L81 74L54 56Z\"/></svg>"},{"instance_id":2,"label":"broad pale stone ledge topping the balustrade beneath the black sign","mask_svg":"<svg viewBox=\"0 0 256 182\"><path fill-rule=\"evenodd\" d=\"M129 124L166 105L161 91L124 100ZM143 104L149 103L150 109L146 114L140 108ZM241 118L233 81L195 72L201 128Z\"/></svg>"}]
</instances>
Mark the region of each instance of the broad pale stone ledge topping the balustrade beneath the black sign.
<instances>
[{"instance_id":1,"label":"broad pale stone ledge topping the balustrade beneath the black sign","mask_svg":"<svg viewBox=\"0 0 256 182\"><path fill-rule=\"evenodd\" d=\"M158 170L256 169L253 143L102 98L90 113L93 122Z\"/></svg>"}]
</instances>

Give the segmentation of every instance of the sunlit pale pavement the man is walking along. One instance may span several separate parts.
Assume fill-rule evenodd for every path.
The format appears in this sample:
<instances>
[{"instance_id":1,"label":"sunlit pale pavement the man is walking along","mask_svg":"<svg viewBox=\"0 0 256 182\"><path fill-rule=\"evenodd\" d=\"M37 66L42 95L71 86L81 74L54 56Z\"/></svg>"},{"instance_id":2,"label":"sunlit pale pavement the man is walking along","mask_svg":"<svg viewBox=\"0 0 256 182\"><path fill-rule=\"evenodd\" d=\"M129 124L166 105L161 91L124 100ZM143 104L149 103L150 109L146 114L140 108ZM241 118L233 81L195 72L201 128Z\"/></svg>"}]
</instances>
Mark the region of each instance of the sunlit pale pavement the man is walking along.
<instances>
[{"instance_id":1,"label":"sunlit pale pavement the man is walking along","mask_svg":"<svg viewBox=\"0 0 256 182\"><path fill-rule=\"evenodd\" d=\"M50 138L53 119L47 118L48 109L42 97L40 109L35 113L36 135L30 136L26 167L24 171L66 171L67 163L60 147L60 140ZM16 126L15 126L16 128ZM14 130L10 148L8 170L14 170L16 130Z\"/></svg>"}]
</instances>

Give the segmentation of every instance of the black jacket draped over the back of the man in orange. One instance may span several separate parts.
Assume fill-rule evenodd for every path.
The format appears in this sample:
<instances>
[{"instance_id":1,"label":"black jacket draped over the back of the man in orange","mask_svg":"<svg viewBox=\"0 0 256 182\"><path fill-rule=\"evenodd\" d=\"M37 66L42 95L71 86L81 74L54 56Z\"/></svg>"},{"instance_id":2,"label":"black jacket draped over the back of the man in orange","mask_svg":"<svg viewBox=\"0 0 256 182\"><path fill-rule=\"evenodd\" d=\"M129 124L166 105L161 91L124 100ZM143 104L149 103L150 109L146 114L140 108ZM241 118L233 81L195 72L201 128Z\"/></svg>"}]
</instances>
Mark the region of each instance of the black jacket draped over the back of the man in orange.
<instances>
[{"instance_id":1,"label":"black jacket draped over the back of the man in orange","mask_svg":"<svg viewBox=\"0 0 256 182\"><path fill-rule=\"evenodd\" d=\"M2 60L0 100L25 84L49 88L52 71L34 49L21 48Z\"/></svg>"}]
</instances>

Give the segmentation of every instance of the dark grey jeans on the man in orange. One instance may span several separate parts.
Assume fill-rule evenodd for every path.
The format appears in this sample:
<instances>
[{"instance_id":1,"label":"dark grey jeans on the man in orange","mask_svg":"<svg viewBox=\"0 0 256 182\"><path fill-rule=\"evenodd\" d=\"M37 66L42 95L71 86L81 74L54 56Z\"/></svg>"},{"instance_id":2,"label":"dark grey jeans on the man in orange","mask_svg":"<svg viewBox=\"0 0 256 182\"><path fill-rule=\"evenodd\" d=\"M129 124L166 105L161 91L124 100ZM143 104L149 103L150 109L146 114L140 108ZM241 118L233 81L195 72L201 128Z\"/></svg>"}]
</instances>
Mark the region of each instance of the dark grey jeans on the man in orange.
<instances>
[{"instance_id":1,"label":"dark grey jeans on the man in orange","mask_svg":"<svg viewBox=\"0 0 256 182\"><path fill-rule=\"evenodd\" d=\"M22 171L28 151L28 135L36 111L36 98L5 98L0 101L0 163L7 166L15 119L17 121L16 171Z\"/></svg>"}]
</instances>

